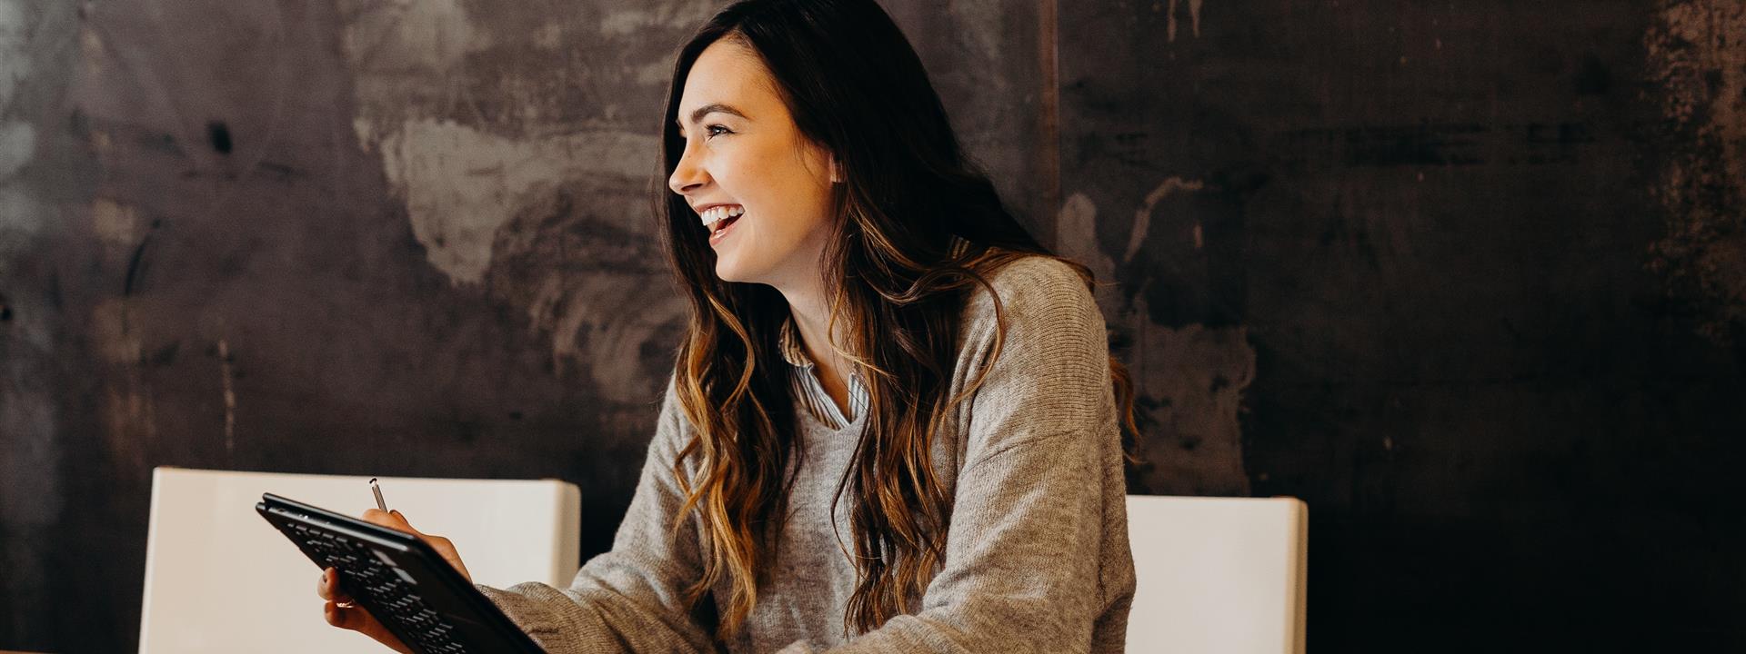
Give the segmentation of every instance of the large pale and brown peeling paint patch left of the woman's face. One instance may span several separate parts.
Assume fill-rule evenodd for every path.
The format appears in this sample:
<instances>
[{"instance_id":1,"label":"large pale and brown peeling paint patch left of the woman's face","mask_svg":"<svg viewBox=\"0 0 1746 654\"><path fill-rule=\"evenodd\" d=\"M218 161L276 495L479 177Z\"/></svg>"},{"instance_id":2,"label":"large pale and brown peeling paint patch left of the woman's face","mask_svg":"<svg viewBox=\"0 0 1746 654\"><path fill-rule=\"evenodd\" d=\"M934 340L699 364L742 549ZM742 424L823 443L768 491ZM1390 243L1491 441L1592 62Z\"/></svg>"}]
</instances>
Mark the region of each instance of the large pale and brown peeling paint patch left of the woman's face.
<instances>
[{"instance_id":1,"label":"large pale and brown peeling paint patch left of the woman's face","mask_svg":"<svg viewBox=\"0 0 1746 654\"><path fill-rule=\"evenodd\" d=\"M602 399L656 394L672 328L684 319L676 295L650 293L667 277L648 234L658 134L646 120L632 122L646 131L625 127L627 113L658 105L632 110L622 94L643 87L658 103L672 61L644 44L662 31L677 38L719 5L669 0L588 21L553 17L531 42L505 33L510 23L498 16L452 2L346 26L346 56L358 72L353 133L381 157L426 260L452 284L482 284L517 307L550 338L553 373L581 375ZM407 37L405 21L440 28ZM515 65L534 61L531 49L566 51L578 38L632 42L629 52L641 56ZM438 42L450 45L438 54Z\"/></svg>"}]
</instances>

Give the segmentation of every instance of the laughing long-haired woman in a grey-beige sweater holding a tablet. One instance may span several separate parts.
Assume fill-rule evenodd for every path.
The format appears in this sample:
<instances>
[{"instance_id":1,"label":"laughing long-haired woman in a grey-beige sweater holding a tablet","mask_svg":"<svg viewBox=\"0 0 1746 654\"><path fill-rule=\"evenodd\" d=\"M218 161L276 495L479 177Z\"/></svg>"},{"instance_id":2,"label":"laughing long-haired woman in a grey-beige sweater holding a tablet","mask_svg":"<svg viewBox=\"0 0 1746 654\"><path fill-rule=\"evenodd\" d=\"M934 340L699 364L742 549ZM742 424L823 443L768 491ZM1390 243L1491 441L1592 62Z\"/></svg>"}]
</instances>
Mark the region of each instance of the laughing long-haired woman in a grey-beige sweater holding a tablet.
<instances>
[{"instance_id":1,"label":"laughing long-haired woman in a grey-beige sweater holding a tablet","mask_svg":"<svg viewBox=\"0 0 1746 654\"><path fill-rule=\"evenodd\" d=\"M1090 274L966 162L890 17L725 9L663 133L691 319L630 509L567 589L480 591L550 652L1121 651L1131 401Z\"/></svg>"}]
</instances>

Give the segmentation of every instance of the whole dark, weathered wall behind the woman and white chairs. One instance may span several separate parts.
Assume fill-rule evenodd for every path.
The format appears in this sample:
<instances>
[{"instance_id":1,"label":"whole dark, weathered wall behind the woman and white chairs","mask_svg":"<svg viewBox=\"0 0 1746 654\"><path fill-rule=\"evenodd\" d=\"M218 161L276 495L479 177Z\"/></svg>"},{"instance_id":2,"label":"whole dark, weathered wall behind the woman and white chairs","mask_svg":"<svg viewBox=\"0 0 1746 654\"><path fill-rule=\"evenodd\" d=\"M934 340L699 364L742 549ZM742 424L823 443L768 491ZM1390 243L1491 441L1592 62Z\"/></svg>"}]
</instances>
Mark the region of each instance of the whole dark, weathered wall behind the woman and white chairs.
<instances>
[{"instance_id":1,"label":"whole dark, weathered wall behind the woman and white chairs","mask_svg":"<svg viewBox=\"0 0 1746 654\"><path fill-rule=\"evenodd\" d=\"M152 466L555 476L602 549L719 5L0 0L0 649L133 647ZM1116 283L1133 490L1310 501L1315 651L1746 645L1746 2L885 5Z\"/></svg>"}]
</instances>

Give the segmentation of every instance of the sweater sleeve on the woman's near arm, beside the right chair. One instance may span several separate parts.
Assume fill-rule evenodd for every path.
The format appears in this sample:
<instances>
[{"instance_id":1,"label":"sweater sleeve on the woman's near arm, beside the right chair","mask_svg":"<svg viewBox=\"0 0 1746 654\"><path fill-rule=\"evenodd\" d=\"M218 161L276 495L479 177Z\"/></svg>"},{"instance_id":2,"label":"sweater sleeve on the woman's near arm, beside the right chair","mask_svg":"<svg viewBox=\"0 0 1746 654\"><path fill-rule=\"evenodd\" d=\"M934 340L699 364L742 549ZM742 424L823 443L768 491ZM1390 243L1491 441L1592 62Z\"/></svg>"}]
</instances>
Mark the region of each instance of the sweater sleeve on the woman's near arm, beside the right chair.
<instances>
[{"instance_id":1,"label":"sweater sleeve on the woman's near arm, beside the right chair","mask_svg":"<svg viewBox=\"0 0 1746 654\"><path fill-rule=\"evenodd\" d=\"M1105 494L1121 480L1105 469L1119 433L1103 317L1060 262L1014 262L992 286L1006 340L973 399L945 563L920 612L831 652L1086 652L1124 598L1102 562ZM986 361L993 310L986 296L969 310L966 347ZM1131 558L1112 567L1119 577Z\"/></svg>"}]
</instances>

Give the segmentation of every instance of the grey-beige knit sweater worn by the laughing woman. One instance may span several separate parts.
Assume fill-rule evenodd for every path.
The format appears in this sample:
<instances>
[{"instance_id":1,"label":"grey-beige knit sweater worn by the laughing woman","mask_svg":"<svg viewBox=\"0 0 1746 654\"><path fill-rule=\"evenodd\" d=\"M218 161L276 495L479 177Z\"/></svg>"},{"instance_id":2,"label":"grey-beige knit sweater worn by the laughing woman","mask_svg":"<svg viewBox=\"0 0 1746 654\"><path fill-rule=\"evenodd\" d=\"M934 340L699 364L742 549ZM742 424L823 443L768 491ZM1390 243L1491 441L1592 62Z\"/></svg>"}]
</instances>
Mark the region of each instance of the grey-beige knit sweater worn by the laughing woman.
<instances>
[{"instance_id":1,"label":"grey-beige knit sweater worn by the laughing woman","mask_svg":"<svg viewBox=\"0 0 1746 654\"><path fill-rule=\"evenodd\" d=\"M945 565L911 603L915 614L845 633L856 569L829 509L864 415L831 429L796 410L807 457L779 555L744 633L714 644L709 617L683 607L683 589L700 577L698 521L669 528L683 502L670 462L691 438L670 387L613 549L583 565L569 588L478 588L553 654L1121 652L1133 558L1103 317L1072 269L1055 260L1013 262L990 283L1007 323L1004 351L990 361L993 303L976 291L950 392L983 368L988 377L946 419L936 445L934 467L953 497L952 527ZM836 516L843 542L852 537L847 504ZM716 596L726 596L725 588Z\"/></svg>"}]
</instances>

